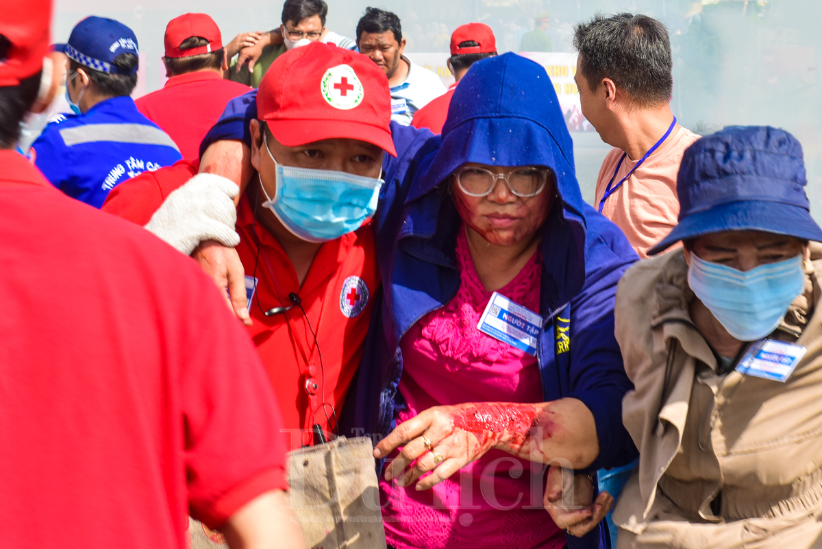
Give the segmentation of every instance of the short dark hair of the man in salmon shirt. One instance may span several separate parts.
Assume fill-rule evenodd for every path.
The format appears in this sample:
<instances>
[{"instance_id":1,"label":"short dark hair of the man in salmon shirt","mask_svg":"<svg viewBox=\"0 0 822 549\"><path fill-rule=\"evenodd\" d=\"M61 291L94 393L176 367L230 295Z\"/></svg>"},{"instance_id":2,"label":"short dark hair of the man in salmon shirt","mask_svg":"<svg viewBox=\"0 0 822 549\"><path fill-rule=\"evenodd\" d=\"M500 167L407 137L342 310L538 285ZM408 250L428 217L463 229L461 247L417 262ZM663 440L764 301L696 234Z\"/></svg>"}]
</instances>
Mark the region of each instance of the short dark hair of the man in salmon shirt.
<instances>
[{"instance_id":1,"label":"short dark hair of the man in salmon shirt","mask_svg":"<svg viewBox=\"0 0 822 549\"><path fill-rule=\"evenodd\" d=\"M673 92L671 42L665 25L644 15L598 13L574 29L580 72L591 91L610 78L644 107L667 103Z\"/></svg>"}]
</instances>

